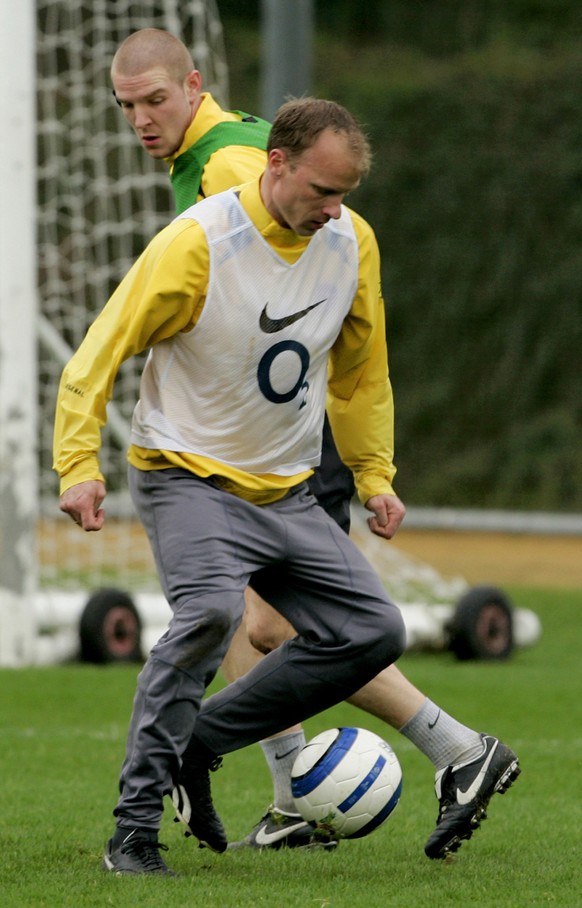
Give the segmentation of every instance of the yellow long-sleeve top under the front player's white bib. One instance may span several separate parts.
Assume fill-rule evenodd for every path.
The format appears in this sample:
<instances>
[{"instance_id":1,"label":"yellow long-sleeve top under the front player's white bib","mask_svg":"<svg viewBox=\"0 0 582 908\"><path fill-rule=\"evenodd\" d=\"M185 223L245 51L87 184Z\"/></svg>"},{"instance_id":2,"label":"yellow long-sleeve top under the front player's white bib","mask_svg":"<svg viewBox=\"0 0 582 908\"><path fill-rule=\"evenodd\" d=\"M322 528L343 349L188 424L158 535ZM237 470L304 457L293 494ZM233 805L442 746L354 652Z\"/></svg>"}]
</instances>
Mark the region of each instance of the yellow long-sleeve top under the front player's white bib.
<instances>
[{"instance_id":1,"label":"yellow long-sleeve top under the front player's white bib","mask_svg":"<svg viewBox=\"0 0 582 908\"><path fill-rule=\"evenodd\" d=\"M240 201L277 255L289 263L297 261L309 237L273 221L258 179L241 188ZM365 503L372 495L393 494L393 402L378 247L369 225L354 212L350 216L359 246L358 287L330 351L327 412L340 456L352 469ZM195 328L208 272L202 228L189 218L176 220L152 240L93 322L59 386L54 469L61 477L61 494L86 480L104 480L98 459L101 428L117 372L129 357ZM212 475L229 491L257 504L276 500L311 473L249 474L199 455L136 445L129 448L128 459L142 470L180 466Z\"/></svg>"}]
</instances>

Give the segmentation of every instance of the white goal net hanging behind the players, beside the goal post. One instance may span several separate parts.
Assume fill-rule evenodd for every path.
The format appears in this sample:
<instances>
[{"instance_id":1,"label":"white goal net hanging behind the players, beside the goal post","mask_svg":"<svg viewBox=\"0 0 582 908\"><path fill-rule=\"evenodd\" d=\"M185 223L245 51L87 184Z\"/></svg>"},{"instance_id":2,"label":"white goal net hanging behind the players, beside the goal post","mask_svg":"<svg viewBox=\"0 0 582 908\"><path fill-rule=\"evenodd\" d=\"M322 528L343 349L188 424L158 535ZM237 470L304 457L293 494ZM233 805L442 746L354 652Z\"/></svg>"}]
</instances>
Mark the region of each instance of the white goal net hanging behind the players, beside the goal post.
<instances>
[{"instance_id":1,"label":"white goal net hanging behind the players, beside the goal post","mask_svg":"<svg viewBox=\"0 0 582 908\"><path fill-rule=\"evenodd\" d=\"M140 28L191 49L205 88L228 103L214 0L37 0L37 261L41 588L155 584L147 541L126 494L129 419L141 363L122 368L103 435L107 520L83 534L58 511L52 471L55 394L87 327L152 236L173 217L167 169L145 154L113 99L111 59Z\"/></svg>"}]
</instances>

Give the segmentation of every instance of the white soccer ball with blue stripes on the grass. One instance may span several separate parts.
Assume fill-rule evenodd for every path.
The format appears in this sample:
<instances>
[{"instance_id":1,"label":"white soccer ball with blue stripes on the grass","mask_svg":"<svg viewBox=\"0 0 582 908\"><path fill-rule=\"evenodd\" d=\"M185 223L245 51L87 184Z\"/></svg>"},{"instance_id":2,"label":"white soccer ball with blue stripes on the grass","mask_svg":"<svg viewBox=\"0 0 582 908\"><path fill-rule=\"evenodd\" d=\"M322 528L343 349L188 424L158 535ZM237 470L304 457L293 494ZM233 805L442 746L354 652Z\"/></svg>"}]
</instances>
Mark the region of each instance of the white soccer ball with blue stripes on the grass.
<instances>
[{"instance_id":1,"label":"white soccer ball with blue stripes on the grass","mask_svg":"<svg viewBox=\"0 0 582 908\"><path fill-rule=\"evenodd\" d=\"M298 812L340 839L369 835L388 819L402 792L402 770L389 744L365 728L330 728L302 748L291 772Z\"/></svg>"}]
</instances>

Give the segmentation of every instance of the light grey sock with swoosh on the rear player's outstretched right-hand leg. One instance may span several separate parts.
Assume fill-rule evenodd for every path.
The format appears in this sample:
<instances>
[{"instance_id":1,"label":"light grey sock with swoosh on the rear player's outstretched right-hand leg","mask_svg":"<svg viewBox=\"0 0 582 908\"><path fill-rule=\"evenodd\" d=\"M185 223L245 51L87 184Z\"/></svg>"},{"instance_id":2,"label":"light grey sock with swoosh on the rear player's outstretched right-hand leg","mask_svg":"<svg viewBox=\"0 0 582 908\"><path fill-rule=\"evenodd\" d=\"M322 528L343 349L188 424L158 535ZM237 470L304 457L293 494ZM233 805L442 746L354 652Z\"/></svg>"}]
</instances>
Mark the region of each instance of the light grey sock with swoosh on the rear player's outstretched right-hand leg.
<instances>
[{"instance_id":1,"label":"light grey sock with swoosh on the rear player's outstretched right-hand leg","mask_svg":"<svg viewBox=\"0 0 582 908\"><path fill-rule=\"evenodd\" d=\"M467 763L483 753L479 732L457 722L428 698L399 731L428 757L436 770Z\"/></svg>"}]
</instances>

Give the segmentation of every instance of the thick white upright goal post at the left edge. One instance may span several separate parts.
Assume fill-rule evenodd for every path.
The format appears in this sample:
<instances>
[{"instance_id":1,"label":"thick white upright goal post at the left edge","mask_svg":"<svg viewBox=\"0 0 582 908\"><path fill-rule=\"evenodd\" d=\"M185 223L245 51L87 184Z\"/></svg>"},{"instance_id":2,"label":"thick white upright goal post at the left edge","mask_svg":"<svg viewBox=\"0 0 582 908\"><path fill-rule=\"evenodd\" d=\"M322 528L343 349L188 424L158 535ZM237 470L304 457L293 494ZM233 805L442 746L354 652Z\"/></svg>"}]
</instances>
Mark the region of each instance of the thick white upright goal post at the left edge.
<instances>
[{"instance_id":1,"label":"thick white upright goal post at the left edge","mask_svg":"<svg viewBox=\"0 0 582 908\"><path fill-rule=\"evenodd\" d=\"M30 661L36 586L34 15L3 17L0 60L0 665Z\"/></svg>"}]
</instances>

